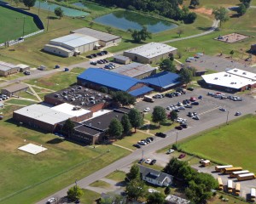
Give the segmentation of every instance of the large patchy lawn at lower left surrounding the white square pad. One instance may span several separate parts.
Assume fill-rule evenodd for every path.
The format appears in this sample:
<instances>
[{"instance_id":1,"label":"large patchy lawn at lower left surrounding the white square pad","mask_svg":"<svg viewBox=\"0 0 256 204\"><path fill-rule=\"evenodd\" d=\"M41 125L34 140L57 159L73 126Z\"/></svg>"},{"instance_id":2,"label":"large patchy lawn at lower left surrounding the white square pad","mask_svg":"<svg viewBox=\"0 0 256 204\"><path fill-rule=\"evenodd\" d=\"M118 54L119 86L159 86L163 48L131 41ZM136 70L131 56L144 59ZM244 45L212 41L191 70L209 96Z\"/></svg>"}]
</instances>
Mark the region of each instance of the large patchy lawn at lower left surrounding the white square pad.
<instances>
[{"instance_id":1,"label":"large patchy lawn at lower left surrounding the white square pad","mask_svg":"<svg viewBox=\"0 0 256 204\"><path fill-rule=\"evenodd\" d=\"M129 154L128 150L113 145L93 149L63 141L50 133L17 127L7 120L16 108L19 107L6 106L1 110L6 120L0 122L0 203L35 203ZM17 150L27 143L43 144L48 150L37 156Z\"/></svg>"}]
</instances>

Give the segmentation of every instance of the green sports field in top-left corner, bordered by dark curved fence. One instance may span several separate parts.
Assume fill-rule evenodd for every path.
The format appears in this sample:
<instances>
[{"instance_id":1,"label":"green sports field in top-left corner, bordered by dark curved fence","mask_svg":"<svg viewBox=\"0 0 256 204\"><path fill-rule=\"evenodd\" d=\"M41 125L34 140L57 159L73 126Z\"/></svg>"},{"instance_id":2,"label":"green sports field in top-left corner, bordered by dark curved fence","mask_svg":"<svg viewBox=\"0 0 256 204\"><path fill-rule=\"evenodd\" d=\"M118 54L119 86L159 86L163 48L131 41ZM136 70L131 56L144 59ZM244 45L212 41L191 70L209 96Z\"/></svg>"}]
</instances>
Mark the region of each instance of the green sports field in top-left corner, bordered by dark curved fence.
<instances>
[{"instance_id":1,"label":"green sports field in top-left corner, bordered by dark curved fence","mask_svg":"<svg viewBox=\"0 0 256 204\"><path fill-rule=\"evenodd\" d=\"M24 35L38 31L38 26L31 16L20 14L0 6L0 43L17 39Z\"/></svg>"}]
</instances>

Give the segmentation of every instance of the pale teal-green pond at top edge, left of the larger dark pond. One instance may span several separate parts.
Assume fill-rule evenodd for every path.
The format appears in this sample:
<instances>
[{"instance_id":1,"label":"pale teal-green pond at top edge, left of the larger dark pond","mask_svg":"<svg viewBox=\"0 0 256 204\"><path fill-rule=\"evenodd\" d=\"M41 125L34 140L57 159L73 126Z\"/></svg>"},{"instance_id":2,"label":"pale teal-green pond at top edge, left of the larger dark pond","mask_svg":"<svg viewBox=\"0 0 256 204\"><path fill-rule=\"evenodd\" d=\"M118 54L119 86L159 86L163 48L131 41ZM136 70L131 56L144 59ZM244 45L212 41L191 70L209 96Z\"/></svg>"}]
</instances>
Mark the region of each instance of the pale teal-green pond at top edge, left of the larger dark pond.
<instances>
[{"instance_id":1,"label":"pale teal-green pond at top edge, left of the larger dark pond","mask_svg":"<svg viewBox=\"0 0 256 204\"><path fill-rule=\"evenodd\" d=\"M34 7L39 8L39 2L38 1L35 3ZM55 8L57 8L57 7L61 7L61 9L64 12L64 15L66 15L66 16L77 17L77 16L89 15L89 13L87 13L87 12L80 11L80 10L73 9L73 8L63 7L63 6L57 5L55 3L49 3L49 4L46 3L46 2L43 2L43 3L41 2L40 3L40 8L42 8L44 10L49 9L49 11L51 11L51 12L55 12Z\"/></svg>"}]
</instances>

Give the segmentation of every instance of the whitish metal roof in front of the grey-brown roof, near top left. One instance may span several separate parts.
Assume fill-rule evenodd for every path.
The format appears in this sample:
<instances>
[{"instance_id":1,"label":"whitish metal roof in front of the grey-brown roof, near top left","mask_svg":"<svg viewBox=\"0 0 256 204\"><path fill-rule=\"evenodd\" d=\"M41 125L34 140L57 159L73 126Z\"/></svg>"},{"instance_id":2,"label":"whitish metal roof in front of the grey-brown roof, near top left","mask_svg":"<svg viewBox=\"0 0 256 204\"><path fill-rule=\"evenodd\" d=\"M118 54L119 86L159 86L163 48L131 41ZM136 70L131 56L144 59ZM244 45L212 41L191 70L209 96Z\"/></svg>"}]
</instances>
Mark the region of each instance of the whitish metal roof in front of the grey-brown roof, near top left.
<instances>
[{"instance_id":1,"label":"whitish metal roof in front of the grey-brown roof, near top left","mask_svg":"<svg viewBox=\"0 0 256 204\"><path fill-rule=\"evenodd\" d=\"M79 33L73 33L64 37L58 37L55 38L50 42L59 42L59 43L63 43L66 44L68 46L71 46L73 48L77 48L79 46L82 46L84 44L89 44L91 42L97 42L98 39L96 39L95 37L90 37L90 36L86 36L83 34L79 34Z\"/></svg>"}]
</instances>

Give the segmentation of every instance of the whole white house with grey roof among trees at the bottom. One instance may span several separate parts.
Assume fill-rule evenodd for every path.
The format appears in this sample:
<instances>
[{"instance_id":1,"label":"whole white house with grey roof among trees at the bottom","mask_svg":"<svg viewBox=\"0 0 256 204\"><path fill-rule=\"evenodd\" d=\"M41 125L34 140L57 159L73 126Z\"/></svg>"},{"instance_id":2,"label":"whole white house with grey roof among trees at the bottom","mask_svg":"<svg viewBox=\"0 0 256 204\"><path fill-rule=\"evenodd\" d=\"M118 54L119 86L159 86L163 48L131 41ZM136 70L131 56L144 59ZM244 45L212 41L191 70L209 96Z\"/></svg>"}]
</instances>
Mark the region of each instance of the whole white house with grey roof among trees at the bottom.
<instances>
[{"instance_id":1,"label":"whole white house with grey roof among trees at the bottom","mask_svg":"<svg viewBox=\"0 0 256 204\"><path fill-rule=\"evenodd\" d=\"M149 167L144 167L143 165L138 166L140 168L140 173L144 181L158 186L170 186L172 184L172 175L162 173Z\"/></svg>"}]
</instances>

